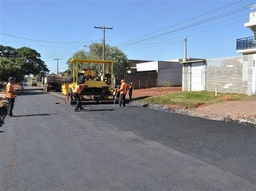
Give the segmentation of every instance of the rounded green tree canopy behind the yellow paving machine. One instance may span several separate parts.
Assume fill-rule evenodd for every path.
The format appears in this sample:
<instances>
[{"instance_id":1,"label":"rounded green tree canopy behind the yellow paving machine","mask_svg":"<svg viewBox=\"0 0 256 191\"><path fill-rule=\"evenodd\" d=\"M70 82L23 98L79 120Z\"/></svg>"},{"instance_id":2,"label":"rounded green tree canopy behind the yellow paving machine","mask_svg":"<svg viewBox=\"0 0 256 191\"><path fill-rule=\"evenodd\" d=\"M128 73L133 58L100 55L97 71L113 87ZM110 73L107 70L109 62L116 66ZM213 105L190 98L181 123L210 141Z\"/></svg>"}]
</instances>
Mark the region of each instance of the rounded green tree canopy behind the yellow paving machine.
<instances>
[{"instance_id":1,"label":"rounded green tree canopy behind the yellow paving machine","mask_svg":"<svg viewBox=\"0 0 256 191\"><path fill-rule=\"evenodd\" d=\"M114 62L114 74L124 74L127 71L127 68L130 68L129 60L124 52L114 46L106 44L106 60L113 60ZM71 59L91 59L91 60L103 60L103 45L100 43L93 43L89 46L89 52L80 50L77 51L66 64L69 66L72 71ZM79 65L79 70L87 68L88 65L84 63ZM100 65L93 66L93 69L101 69Z\"/></svg>"}]
</instances>

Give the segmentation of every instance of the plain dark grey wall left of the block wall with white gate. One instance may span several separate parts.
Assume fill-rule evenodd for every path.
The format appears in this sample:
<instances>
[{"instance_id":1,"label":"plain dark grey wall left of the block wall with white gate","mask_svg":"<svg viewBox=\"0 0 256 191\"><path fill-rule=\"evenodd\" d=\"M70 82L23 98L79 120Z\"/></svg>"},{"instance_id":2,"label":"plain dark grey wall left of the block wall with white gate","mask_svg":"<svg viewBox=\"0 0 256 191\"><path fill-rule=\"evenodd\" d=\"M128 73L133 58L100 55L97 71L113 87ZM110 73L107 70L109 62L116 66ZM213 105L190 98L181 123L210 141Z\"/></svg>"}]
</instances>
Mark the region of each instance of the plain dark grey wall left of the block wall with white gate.
<instances>
[{"instance_id":1,"label":"plain dark grey wall left of the block wall with white gate","mask_svg":"<svg viewBox=\"0 0 256 191\"><path fill-rule=\"evenodd\" d=\"M179 62L158 61L158 86L182 86L182 64Z\"/></svg>"}]
</instances>

